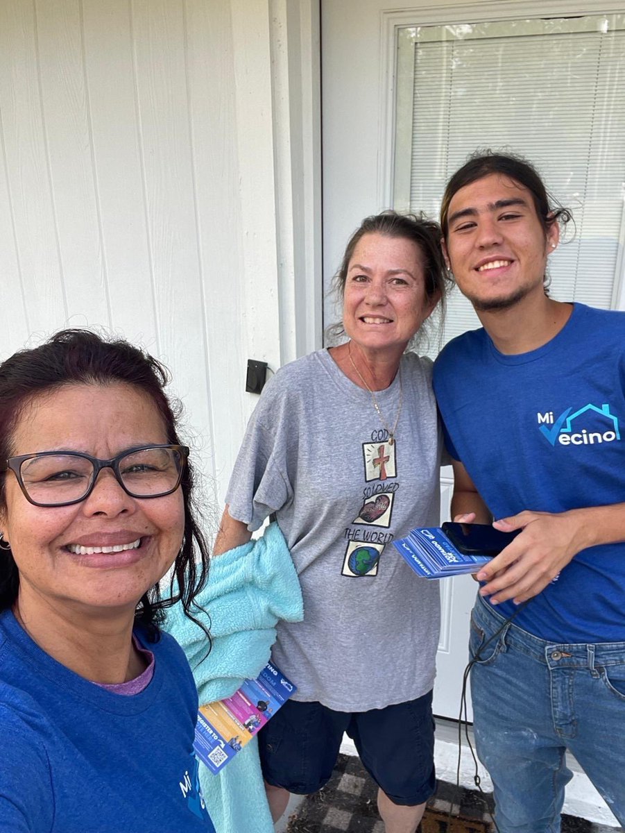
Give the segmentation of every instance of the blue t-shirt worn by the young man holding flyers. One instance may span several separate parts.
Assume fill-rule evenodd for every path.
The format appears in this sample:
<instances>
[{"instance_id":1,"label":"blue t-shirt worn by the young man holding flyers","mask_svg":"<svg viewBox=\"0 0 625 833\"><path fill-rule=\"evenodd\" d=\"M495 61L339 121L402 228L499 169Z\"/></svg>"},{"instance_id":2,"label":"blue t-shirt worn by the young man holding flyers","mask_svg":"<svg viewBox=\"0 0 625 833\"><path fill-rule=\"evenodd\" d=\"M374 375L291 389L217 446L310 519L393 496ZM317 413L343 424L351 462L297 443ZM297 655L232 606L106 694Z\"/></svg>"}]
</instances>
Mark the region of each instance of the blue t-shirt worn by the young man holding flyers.
<instances>
[{"instance_id":1,"label":"blue t-shirt worn by the young man holding flyers","mask_svg":"<svg viewBox=\"0 0 625 833\"><path fill-rule=\"evenodd\" d=\"M550 342L500 353L484 329L434 365L449 453L495 518L625 501L625 313L575 304ZM512 616L512 601L498 611ZM518 613L553 642L625 641L625 543L583 550Z\"/></svg>"}]
</instances>

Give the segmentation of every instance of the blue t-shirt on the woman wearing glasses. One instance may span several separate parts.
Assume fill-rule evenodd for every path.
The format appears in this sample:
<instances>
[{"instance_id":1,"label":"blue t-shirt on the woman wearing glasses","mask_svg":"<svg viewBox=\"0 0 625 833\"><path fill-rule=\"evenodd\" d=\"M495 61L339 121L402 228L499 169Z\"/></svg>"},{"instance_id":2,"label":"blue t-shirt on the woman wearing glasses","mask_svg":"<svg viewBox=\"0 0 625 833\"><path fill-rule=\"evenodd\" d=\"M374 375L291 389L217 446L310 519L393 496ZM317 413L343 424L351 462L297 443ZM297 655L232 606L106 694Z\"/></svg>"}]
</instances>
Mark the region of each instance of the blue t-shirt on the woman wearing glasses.
<instances>
[{"instance_id":1,"label":"blue t-shirt on the woman wearing glasses","mask_svg":"<svg viewBox=\"0 0 625 833\"><path fill-rule=\"evenodd\" d=\"M0 831L215 833L199 791L196 686L163 634L134 696L84 680L0 613Z\"/></svg>"}]
</instances>

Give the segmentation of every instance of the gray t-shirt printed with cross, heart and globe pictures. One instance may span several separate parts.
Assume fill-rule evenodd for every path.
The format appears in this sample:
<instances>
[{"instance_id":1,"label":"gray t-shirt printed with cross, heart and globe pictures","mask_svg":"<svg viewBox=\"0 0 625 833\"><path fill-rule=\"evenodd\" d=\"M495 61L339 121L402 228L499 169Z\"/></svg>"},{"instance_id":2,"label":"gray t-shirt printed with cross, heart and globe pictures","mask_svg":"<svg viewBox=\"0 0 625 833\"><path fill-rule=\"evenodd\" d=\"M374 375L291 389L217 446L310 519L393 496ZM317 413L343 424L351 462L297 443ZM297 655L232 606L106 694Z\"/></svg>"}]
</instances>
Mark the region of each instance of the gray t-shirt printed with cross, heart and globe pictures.
<instances>
[{"instance_id":1,"label":"gray t-shirt printed with cross, heart and globe pictures","mask_svg":"<svg viewBox=\"0 0 625 833\"><path fill-rule=\"evenodd\" d=\"M267 384L231 476L230 514L257 530L275 512L304 596L304 621L280 622L272 661L295 700L369 711L434 685L439 586L389 546L439 524L441 435L429 359L401 361L404 404L394 443L370 392L326 350ZM387 425L399 373L375 393Z\"/></svg>"}]
</instances>

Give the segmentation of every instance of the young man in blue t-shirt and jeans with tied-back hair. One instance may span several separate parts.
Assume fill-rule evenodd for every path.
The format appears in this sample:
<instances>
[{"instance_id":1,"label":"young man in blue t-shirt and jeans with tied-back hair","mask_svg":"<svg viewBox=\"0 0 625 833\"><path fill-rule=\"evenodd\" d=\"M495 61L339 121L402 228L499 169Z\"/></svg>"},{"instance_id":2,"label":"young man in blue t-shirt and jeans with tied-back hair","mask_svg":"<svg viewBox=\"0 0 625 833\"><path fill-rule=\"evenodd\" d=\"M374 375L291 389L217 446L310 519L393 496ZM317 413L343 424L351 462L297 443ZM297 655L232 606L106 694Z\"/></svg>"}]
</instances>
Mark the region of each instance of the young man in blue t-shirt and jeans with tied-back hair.
<instances>
[{"instance_id":1,"label":"young man in blue t-shirt and jeans with tied-back hair","mask_svg":"<svg viewBox=\"0 0 625 833\"><path fill-rule=\"evenodd\" d=\"M480 571L471 623L501 833L560 830L567 749L625 823L625 313L548 297L567 220L533 167L496 154L451 177L441 212L483 324L434 366L452 514L522 530Z\"/></svg>"}]
</instances>

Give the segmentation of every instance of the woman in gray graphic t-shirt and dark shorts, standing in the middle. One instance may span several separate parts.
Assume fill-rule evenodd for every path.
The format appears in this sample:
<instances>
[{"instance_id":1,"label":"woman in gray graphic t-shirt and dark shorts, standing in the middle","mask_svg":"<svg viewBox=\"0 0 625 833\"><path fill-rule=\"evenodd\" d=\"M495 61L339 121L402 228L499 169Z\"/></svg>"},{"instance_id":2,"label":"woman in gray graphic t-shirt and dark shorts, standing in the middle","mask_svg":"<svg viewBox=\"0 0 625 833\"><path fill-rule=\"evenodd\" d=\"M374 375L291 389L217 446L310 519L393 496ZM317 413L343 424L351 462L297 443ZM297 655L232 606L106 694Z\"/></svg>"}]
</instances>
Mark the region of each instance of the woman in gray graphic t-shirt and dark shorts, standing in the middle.
<instances>
[{"instance_id":1,"label":"woman in gray graphic t-shirt and dark shorts, standing in the middle","mask_svg":"<svg viewBox=\"0 0 625 833\"><path fill-rule=\"evenodd\" d=\"M304 596L272 652L298 691L259 734L274 819L328 781L345 731L386 833L416 830L434 792L439 589L387 545L439 523L431 362L406 352L444 297L439 240L395 212L362 222L337 276L349 340L276 373L232 473L216 554L275 513Z\"/></svg>"}]
</instances>

